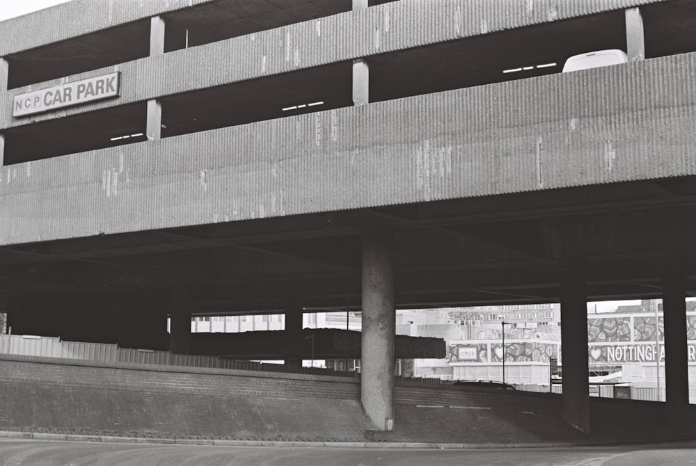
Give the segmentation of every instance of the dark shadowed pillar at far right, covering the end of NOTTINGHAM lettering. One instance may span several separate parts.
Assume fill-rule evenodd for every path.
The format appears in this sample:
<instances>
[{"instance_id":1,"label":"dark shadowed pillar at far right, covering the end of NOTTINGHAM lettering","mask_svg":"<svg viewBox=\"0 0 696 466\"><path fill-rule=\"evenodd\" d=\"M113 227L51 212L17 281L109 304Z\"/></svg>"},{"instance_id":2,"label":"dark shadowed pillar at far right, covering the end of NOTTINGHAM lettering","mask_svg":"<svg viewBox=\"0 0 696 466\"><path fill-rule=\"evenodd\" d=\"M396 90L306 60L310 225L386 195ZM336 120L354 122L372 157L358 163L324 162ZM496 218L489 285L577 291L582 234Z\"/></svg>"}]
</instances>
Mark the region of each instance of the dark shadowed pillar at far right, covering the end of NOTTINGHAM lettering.
<instances>
[{"instance_id":1,"label":"dark shadowed pillar at far right, covering the end of NOTTINGHAM lettering","mask_svg":"<svg viewBox=\"0 0 696 466\"><path fill-rule=\"evenodd\" d=\"M689 375L686 345L686 284L683 275L663 278L665 320L665 386L667 421L689 425Z\"/></svg>"}]
</instances>

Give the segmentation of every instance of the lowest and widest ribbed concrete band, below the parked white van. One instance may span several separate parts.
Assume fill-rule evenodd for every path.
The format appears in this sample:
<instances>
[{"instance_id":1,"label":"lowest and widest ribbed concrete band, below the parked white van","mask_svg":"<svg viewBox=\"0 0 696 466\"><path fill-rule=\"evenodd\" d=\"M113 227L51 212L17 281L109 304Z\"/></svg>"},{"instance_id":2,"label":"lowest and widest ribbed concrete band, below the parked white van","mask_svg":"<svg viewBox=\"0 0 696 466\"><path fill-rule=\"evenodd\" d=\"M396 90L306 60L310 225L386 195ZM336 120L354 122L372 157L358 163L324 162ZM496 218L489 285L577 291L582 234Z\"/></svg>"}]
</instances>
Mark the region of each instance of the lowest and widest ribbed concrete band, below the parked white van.
<instances>
[{"instance_id":1,"label":"lowest and widest ribbed concrete band, below the parked white van","mask_svg":"<svg viewBox=\"0 0 696 466\"><path fill-rule=\"evenodd\" d=\"M694 175L694 74L656 58L6 166L0 239Z\"/></svg>"}]
</instances>

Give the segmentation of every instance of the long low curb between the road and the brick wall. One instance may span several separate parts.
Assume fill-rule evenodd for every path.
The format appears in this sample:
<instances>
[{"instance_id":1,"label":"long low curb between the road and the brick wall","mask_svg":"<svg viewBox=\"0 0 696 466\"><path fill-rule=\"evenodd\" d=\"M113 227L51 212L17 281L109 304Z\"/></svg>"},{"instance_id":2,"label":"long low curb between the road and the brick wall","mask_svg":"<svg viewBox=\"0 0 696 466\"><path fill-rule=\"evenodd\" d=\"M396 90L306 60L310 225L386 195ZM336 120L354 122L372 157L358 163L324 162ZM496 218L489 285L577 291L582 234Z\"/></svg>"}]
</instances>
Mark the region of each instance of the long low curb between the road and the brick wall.
<instances>
[{"instance_id":1,"label":"long low curb between the road and the brick wall","mask_svg":"<svg viewBox=\"0 0 696 466\"><path fill-rule=\"evenodd\" d=\"M426 442L298 442L279 440L215 440L185 438L115 437L113 435L74 435L42 432L0 431L0 439L47 440L51 442L101 442L168 445L207 445L219 447L280 447L280 448L354 448L354 449L423 449L423 450L488 450L611 447L628 444L657 445L690 442L693 437L658 440L654 442L539 442L539 443L426 443Z\"/></svg>"}]
</instances>

